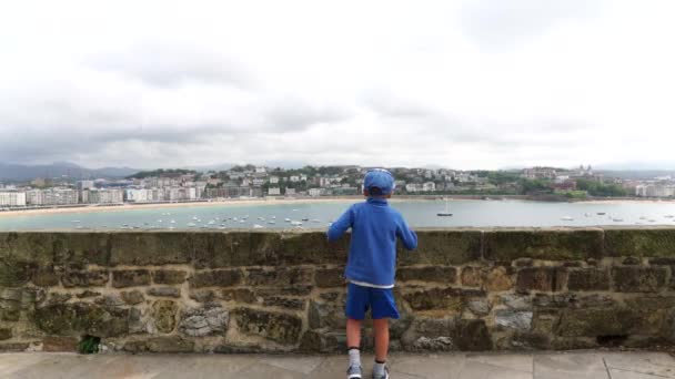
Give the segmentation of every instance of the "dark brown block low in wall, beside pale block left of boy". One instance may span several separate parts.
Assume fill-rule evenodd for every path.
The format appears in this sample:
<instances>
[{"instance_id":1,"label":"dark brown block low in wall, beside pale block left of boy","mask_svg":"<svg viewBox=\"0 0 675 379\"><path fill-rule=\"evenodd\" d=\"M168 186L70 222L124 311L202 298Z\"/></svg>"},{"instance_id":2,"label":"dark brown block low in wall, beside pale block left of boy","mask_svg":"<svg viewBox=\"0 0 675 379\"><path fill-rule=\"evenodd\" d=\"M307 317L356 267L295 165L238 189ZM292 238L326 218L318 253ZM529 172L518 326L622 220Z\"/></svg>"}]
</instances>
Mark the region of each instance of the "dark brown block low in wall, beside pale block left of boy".
<instances>
[{"instance_id":1,"label":"dark brown block low in wall, beside pale block left of boy","mask_svg":"<svg viewBox=\"0 0 675 379\"><path fill-rule=\"evenodd\" d=\"M300 341L302 320L296 316L251 308L236 308L232 314L241 332L261 336L281 345Z\"/></svg>"}]
</instances>

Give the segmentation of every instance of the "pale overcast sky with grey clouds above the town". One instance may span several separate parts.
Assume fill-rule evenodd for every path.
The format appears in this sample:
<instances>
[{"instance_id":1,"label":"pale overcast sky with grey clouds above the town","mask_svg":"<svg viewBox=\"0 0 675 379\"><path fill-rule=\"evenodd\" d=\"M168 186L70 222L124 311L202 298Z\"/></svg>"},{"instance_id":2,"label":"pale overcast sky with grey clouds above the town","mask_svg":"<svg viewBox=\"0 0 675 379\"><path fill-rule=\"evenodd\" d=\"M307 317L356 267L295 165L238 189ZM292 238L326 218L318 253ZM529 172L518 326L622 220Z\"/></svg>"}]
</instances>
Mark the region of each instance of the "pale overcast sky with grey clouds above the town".
<instances>
[{"instance_id":1,"label":"pale overcast sky with grey clouds above the town","mask_svg":"<svg viewBox=\"0 0 675 379\"><path fill-rule=\"evenodd\" d=\"M11 1L0 161L675 168L675 2Z\"/></svg>"}]
</instances>

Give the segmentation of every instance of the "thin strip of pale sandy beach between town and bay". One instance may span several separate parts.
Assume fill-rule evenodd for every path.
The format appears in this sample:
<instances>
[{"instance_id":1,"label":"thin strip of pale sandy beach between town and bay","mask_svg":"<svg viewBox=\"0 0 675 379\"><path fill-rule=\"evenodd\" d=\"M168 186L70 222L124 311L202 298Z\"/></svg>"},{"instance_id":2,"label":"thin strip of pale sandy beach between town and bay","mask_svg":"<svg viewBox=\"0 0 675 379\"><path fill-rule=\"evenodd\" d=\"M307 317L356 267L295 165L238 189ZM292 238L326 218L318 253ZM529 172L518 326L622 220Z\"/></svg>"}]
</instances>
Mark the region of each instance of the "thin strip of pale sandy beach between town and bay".
<instances>
[{"instance_id":1,"label":"thin strip of pale sandy beach between town and bay","mask_svg":"<svg viewBox=\"0 0 675 379\"><path fill-rule=\"evenodd\" d=\"M481 195L455 195L455 196L443 196L443 195L401 195L390 199L392 203L411 202L411 201L439 201L442 198L456 199L456 201L502 201L502 199L517 199L524 202L542 202L527 198L523 195L504 195L504 196L481 196ZM9 209L1 211L0 218L12 217L12 216L38 216L49 214L77 214L77 213L97 213L97 212L124 212L131 209L163 209L163 208L177 208L177 207L200 207L200 206L236 206L236 205L280 205L280 204L325 204L325 203L345 203L345 202L359 202L362 201L363 196L322 196L322 197L289 197L289 198L275 198L275 197L263 197L263 198L230 198L230 199L213 199L213 201L197 201L197 202L180 202L180 203L124 203L118 205L73 205L73 206L61 206L61 207L43 207L43 208L23 208L23 209ZM588 204L608 204L608 203L665 203L673 204L674 199L655 199L655 198L590 198L583 201L572 201L565 203L588 203Z\"/></svg>"}]
</instances>

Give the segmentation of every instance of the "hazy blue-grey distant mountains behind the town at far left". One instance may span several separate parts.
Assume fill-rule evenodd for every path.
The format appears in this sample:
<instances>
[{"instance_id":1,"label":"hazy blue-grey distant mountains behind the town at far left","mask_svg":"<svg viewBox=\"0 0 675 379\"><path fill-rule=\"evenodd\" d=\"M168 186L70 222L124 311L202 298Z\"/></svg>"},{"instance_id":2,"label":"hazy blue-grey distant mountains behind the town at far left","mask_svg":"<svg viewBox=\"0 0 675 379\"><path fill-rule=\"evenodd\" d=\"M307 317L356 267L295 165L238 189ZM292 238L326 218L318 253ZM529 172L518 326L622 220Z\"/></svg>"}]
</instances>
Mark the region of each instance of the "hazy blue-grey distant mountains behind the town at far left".
<instances>
[{"instance_id":1,"label":"hazy blue-grey distant mountains behind the town at far left","mask_svg":"<svg viewBox=\"0 0 675 379\"><path fill-rule=\"evenodd\" d=\"M70 162L54 162L46 165L23 165L0 163L0 181L26 182L36 177L53 178L70 177L74 180L88 178L122 178L139 172L130 167L85 168Z\"/></svg>"}]
</instances>

